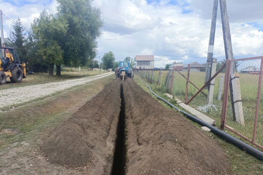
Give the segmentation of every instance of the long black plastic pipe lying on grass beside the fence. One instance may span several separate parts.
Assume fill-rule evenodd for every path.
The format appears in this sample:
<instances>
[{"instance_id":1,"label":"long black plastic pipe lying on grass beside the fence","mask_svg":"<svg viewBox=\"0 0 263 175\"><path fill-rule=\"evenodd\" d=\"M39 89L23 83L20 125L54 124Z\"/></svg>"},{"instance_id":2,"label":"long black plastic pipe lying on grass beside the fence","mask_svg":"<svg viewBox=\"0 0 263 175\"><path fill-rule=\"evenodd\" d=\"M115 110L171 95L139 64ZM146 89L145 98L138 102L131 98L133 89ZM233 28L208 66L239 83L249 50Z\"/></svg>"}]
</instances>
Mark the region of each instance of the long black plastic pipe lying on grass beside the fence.
<instances>
[{"instance_id":1,"label":"long black plastic pipe lying on grass beside the fence","mask_svg":"<svg viewBox=\"0 0 263 175\"><path fill-rule=\"evenodd\" d=\"M146 83L145 83L146 84ZM208 127L209 129L211 129L212 132L214 132L215 134L223 137L224 139L226 139L227 141L230 141L231 143L233 143L234 145L238 146L239 148L241 148L242 150L246 150L249 154L254 155L255 157L257 157L259 160L263 160L263 153L255 148L253 148L252 146L249 146L248 144L236 139L235 137L226 134L225 132L221 131L220 129L217 129L216 127L213 127L212 125L209 125L208 123L204 122L203 120L200 120L199 118L196 118L195 116L186 113L185 111L182 111L181 109L175 107L173 104L171 104L169 101L159 97L158 95L156 95L152 89L146 84L146 86L149 88L150 92L153 93L153 95L155 95L158 99L164 101L165 103L169 104L171 107L175 108L176 110L180 111L181 113L183 113L184 115L186 115L188 118L190 118L191 120L197 122L198 124Z\"/></svg>"}]
</instances>

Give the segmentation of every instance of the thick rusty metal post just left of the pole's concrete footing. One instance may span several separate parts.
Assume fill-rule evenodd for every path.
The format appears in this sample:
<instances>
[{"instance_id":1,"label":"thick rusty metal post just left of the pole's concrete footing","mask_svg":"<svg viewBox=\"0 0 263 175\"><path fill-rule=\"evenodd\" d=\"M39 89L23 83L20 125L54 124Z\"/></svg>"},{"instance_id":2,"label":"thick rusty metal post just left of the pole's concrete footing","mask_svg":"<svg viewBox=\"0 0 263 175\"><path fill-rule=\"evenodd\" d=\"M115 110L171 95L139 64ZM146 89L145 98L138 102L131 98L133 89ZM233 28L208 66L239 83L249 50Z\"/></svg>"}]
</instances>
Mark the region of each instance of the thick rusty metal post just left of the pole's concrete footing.
<instances>
[{"instance_id":1,"label":"thick rusty metal post just left of the pole's concrete footing","mask_svg":"<svg viewBox=\"0 0 263 175\"><path fill-rule=\"evenodd\" d=\"M221 129L224 129L226 125L226 111L227 111L228 90L229 90L230 71L231 71L230 69L231 69L231 62L230 60L226 60L225 87L224 87L224 97L223 97L221 125L220 125Z\"/></svg>"}]
</instances>

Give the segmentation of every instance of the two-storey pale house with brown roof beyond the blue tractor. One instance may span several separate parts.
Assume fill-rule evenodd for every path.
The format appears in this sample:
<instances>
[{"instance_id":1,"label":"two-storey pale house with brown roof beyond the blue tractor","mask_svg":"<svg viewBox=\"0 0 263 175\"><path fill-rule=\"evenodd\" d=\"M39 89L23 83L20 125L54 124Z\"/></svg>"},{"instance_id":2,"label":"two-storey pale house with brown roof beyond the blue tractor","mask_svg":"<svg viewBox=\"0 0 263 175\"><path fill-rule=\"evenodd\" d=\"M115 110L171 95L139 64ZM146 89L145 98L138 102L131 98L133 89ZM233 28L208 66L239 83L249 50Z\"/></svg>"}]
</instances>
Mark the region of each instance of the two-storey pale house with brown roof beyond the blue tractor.
<instances>
[{"instance_id":1,"label":"two-storey pale house with brown roof beyond the blue tractor","mask_svg":"<svg viewBox=\"0 0 263 175\"><path fill-rule=\"evenodd\" d=\"M153 69L154 58L153 55L136 55L136 69Z\"/></svg>"}]
</instances>

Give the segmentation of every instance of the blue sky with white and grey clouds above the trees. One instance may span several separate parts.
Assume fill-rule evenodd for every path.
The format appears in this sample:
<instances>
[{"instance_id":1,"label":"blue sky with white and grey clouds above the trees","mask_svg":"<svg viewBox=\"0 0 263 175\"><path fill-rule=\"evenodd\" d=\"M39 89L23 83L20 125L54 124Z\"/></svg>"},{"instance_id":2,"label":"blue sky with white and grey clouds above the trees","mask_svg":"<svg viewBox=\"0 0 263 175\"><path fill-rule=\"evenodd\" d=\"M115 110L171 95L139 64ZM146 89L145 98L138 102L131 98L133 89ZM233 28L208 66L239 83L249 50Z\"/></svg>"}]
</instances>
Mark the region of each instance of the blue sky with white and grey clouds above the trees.
<instances>
[{"instance_id":1,"label":"blue sky with white and grey clouds above the trees","mask_svg":"<svg viewBox=\"0 0 263 175\"><path fill-rule=\"evenodd\" d=\"M23 25L47 9L56 13L55 0L0 0L3 13ZM154 55L155 67L167 63L205 63L213 0L94 0L105 22L98 40L99 55L113 51L116 60L126 56ZM263 55L263 0L227 0L233 53L236 58ZM4 19L4 36L11 22ZM8 24L9 23L9 24ZM222 60L224 42L220 10L214 57Z\"/></svg>"}]
</instances>

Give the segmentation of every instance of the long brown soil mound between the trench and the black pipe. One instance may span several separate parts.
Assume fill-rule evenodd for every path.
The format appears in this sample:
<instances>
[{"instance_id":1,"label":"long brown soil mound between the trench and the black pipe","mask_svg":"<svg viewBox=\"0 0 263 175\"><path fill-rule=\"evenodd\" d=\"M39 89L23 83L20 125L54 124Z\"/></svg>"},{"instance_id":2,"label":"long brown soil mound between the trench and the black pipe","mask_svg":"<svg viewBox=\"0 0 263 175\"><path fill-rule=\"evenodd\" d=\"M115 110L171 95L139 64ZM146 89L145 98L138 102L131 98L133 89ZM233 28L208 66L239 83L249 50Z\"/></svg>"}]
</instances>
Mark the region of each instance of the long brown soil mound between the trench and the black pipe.
<instances>
[{"instance_id":1,"label":"long brown soil mound between the trench and the black pipe","mask_svg":"<svg viewBox=\"0 0 263 175\"><path fill-rule=\"evenodd\" d=\"M224 151L128 78L123 85L127 174L229 174Z\"/></svg>"}]
</instances>

